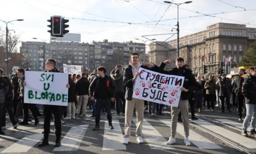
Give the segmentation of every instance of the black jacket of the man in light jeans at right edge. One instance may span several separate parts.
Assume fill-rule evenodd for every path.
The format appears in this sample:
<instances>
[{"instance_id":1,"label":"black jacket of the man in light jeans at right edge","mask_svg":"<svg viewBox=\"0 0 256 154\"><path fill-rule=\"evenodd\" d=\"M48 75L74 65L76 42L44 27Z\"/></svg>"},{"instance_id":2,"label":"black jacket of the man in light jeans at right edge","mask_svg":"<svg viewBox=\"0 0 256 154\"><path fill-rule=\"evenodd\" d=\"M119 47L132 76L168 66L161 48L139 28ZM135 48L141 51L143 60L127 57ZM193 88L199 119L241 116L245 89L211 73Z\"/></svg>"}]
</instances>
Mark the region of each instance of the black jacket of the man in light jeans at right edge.
<instances>
[{"instance_id":1,"label":"black jacket of the man in light jeans at right edge","mask_svg":"<svg viewBox=\"0 0 256 154\"><path fill-rule=\"evenodd\" d=\"M256 77L249 75L244 80L242 94L245 97L245 104L256 104Z\"/></svg>"}]
</instances>

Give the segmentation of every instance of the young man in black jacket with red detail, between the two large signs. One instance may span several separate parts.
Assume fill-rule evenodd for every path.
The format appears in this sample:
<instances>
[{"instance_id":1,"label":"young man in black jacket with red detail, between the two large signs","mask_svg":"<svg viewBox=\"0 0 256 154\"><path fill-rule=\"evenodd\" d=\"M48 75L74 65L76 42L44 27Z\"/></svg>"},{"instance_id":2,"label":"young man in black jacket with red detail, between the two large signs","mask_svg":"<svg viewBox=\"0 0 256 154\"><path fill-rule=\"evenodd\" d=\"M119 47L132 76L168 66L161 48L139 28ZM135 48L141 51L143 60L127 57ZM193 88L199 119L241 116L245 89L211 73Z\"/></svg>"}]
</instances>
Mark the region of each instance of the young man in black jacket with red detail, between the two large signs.
<instances>
[{"instance_id":1,"label":"young man in black jacket with red detail, between the two large signs","mask_svg":"<svg viewBox=\"0 0 256 154\"><path fill-rule=\"evenodd\" d=\"M106 68L100 66L97 68L99 77L94 78L92 84L89 86L90 99L95 103L96 115L95 115L95 127L93 131L100 129L100 113L102 107L105 108L107 112L107 119L109 124L109 129L114 129L112 125L112 115L110 112L111 102L115 101L116 86L112 78L106 75Z\"/></svg>"}]
</instances>

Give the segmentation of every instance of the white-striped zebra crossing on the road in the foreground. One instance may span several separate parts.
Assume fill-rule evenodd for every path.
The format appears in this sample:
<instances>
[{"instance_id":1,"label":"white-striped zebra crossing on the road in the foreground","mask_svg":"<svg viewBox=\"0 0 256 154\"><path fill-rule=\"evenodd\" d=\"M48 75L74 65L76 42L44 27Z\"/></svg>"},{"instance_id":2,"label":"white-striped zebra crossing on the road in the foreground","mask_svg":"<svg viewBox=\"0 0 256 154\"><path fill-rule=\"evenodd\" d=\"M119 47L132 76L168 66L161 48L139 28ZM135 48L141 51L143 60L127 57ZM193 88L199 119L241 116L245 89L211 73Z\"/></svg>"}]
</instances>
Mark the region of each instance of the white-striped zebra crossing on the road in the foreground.
<instances>
[{"instance_id":1,"label":"white-striped zebra crossing on the road in the foreground","mask_svg":"<svg viewBox=\"0 0 256 154\"><path fill-rule=\"evenodd\" d=\"M227 123L231 126L239 128L241 130L242 124L236 121L232 121L229 119L216 119L218 121L222 121L223 123ZM256 140L251 138L246 138L234 131L229 129L223 128L216 124L210 123L203 119L198 119L193 121L193 123L202 126L208 130L211 130L233 142L236 142L239 145L246 147L247 149L254 149L256 145ZM102 125L103 124L103 125ZM101 122L101 130L103 130L103 134L98 134L98 131L92 131L92 127L94 123L90 121L87 123L83 121L80 125L67 125L63 126L62 132L62 139L61 139L61 146L54 148L52 146L51 149L48 150L49 152L74 152L78 151L81 148L81 143L83 141L90 142L90 138L86 136L88 134L94 135L94 139L97 139L99 136L102 135L103 140L101 144L98 145L101 148L101 151L128 151L132 146L122 144L123 141L123 125L124 119L113 119L112 122L114 126L114 130L108 129L108 121ZM166 151L172 151L177 149L175 145L166 145L166 142L170 136L170 119L159 119L158 123L152 122L150 119L144 119L143 121L143 140L144 146L150 149L163 149ZM122 126L122 127L121 127ZM136 119L132 120L132 132L135 132L136 127ZM159 129L164 130L160 131ZM8 142L7 146L0 146L0 153L26 153L31 151L33 147L38 148L38 144L43 139L43 134L41 133L42 128L37 129L36 131L32 131L30 134L24 134L20 138L12 137L12 134L19 133L19 130L9 133L6 135L0 135L0 145L4 145L1 143ZM184 136L184 128L181 123L177 123L177 134L180 136ZM176 135L177 136L177 135ZM53 136L55 139L55 137ZM197 149L211 149L211 150L221 150L225 148L223 145L216 143L214 140L210 140L204 137L202 134L193 130L190 127L190 136L189 136L191 146ZM182 138L183 140L183 138ZM44 147L42 147L44 148ZM83 147L87 148L87 147ZM89 147L88 147L89 148ZM91 148L91 147L90 147ZM40 148L38 148L40 149Z\"/></svg>"}]
</instances>

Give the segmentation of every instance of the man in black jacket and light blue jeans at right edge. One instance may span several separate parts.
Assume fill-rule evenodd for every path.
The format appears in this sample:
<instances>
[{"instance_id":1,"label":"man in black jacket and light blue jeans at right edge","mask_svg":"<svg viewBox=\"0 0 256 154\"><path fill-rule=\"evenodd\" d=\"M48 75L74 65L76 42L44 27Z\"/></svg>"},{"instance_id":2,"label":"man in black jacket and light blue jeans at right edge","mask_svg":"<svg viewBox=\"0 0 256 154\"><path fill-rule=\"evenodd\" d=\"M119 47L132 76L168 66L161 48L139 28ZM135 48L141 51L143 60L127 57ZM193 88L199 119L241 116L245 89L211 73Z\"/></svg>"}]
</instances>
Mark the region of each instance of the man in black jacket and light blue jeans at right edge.
<instances>
[{"instance_id":1,"label":"man in black jacket and light blue jeans at right edge","mask_svg":"<svg viewBox=\"0 0 256 154\"><path fill-rule=\"evenodd\" d=\"M247 127L251 119L250 134L256 134L256 67L250 68L250 75L244 80L242 94L245 97L246 117L244 118L242 135L248 137Z\"/></svg>"}]
</instances>

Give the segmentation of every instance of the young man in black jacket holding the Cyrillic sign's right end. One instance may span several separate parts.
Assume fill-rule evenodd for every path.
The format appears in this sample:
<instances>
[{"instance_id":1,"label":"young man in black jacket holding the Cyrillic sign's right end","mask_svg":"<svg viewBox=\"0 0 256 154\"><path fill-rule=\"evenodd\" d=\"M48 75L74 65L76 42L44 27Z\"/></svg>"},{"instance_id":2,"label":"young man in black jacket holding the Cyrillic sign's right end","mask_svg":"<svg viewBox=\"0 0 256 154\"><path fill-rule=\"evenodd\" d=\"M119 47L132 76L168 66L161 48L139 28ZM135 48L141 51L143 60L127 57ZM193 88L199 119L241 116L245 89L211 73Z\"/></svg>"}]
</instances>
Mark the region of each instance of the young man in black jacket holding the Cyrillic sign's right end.
<instances>
[{"instance_id":1,"label":"young man in black jacket holding the Cyrillic sign's right end","mask_svg":"<svg viewBox=\"0 0 256 154\"><path fill-rule=\"evenodd\" d=\"M179 101L178 107L171 107L171 137L169 138L167 145L172 145L176 143L175 135L176 135L176 129L177 129L177 116L179 110L181 110L181 115L183 118L183 126L185 131L185 139L184 142L186 146L190 146L190 141L188 139L189 136L189 112L188 112L188 100L190 99L190 93L197 90L197 82L192 74L192 71L190 69L186 69L184 67L184 59L182 57L178 57L176 59L176 68L173 68L169 71L164 71L164 67L166 64L170 64L171 60L166 60L163 63L160 64L160 66L154 65L154 69L161 72L166 73L168 75L176 75L176 76L183 76L184 77L184 83L183 87L181 87L181 99ZM152 64L151 64L152 65Z\"/></svg>"}]
</instances>

